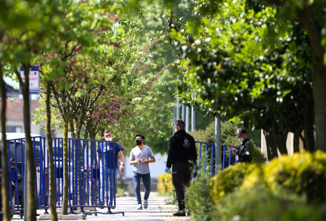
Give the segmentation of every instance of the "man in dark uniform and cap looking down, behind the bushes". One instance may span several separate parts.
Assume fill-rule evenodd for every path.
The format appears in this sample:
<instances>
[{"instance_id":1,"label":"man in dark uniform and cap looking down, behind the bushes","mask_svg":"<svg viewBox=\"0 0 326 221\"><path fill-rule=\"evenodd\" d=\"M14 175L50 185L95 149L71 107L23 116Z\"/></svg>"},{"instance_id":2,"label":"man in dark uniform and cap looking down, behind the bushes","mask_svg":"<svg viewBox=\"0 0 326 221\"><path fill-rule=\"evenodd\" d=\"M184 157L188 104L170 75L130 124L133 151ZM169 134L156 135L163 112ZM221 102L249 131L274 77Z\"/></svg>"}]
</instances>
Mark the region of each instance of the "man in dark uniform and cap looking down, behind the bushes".
<instances>
[{"instance_id":1,"label":"man in dark uniform and cap looking down, behind the bushes","mask_svg":"<svg viewBox=\"0 0 326 221\"><path fill-rule=\"evenodd\" d=\"M231 151L236 153L236 161L238 162L251 162L252 161L252 154L250 153L253 149L252 143L248 138L248 133L244 128L238 128L235 136L241 142L241 147L239 150L231 147Z\"/></svg>"}]
</instances>

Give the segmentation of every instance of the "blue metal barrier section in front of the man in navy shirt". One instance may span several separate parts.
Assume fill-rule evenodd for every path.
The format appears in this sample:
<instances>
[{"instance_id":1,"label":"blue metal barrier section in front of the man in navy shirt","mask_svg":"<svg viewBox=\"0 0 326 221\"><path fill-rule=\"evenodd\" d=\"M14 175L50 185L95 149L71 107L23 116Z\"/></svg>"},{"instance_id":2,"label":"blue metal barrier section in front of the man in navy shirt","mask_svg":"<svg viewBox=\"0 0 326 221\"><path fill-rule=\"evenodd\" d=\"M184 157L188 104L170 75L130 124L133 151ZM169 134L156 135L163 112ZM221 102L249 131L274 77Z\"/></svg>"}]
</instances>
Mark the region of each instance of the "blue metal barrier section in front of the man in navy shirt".
<instances>
[{"instance_id":1,"label":"blue metal barrier section in front of the man in navy shirt","mask_svg":"<svg viewBox=\"0 0 326 221\"><path fill-rule=\"evenodd\" d=\"M111 148L113 142L93 139L81 139L81 138L68 138L68 206L70 213L74 213L73 208L80 207L80 212L84 214L97 213L86 212L85 208L91 207L106 207L108 211L104 214L116 214L124 212L111 212L111 208L115 208L115 181L116 173L113 170L113 174L107 173L104 175L104 179L107 179L107 185L103 187L101 191L101 172L105 171L105 168L100 167L99 162L107 158L109 167L115 167L116 154L114 148ZM97 155L98 148L102 145L105 150L104 154ZM62 206L63 200L63 139L53 138L53 151L54 151L54 186L55 186L55 199L57 207ZM45 157L45 171L48 170L48 156ZM45 178L48 182L48 176ZM113 184L109 186L108 184ZM48 189L45 191L48 196ZM104 202L100 205L100 196L103 196ZM112 204L109 203L109 198L112 199ZM48 202L46 198L45 202ZM47 208L46 208L47 209Z\"/></svg>"}]
</instances>

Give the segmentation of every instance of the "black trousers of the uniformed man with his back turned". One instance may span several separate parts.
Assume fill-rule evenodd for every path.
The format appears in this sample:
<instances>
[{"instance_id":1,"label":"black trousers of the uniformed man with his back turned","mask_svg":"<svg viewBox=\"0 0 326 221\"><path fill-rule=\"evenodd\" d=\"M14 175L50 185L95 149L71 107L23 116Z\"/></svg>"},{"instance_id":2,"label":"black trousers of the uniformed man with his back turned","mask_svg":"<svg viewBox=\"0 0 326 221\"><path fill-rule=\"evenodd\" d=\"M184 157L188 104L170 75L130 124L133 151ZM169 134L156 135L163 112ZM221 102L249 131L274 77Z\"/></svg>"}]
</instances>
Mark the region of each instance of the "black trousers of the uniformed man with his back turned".
<instances>
[{"instance_id":1,"label":"black trousers of the uniformed man with his back turned","mask_svg":"<svg viewBox=\"0 0 326 221\"><path fill-rule=\"evenodd\" d=\"M185 209L184 194L185 187L189 186L191 180L190 164L175 162L172 164L172 182L176 190L179 210Z\"/></svg>"}]
</instances>

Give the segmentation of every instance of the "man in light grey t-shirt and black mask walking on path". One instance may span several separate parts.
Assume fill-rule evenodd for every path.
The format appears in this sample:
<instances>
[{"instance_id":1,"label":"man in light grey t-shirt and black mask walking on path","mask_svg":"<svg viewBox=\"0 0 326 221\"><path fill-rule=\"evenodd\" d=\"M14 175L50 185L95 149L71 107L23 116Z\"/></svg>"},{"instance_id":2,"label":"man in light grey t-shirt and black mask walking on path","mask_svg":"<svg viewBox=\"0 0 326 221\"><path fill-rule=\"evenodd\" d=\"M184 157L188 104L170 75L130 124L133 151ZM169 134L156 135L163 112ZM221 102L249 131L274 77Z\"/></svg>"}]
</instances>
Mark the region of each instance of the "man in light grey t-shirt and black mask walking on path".
<instances>
[{"instance_id":1,"label":"man in light grey t-shirt and black mask walking on path","mask_svg":"<svg viewBox=\"0 0 326 221\"><path fill-rule=\"evenodd\" d=\"M150 172L148 163L154 163L155 157L150 147L144 145L145 136L136 134L136 147L134 147L129 156L130 165L133 165L133 179L135 194L137 200L137 209L143 209L142 198L140 195L140 179L143 179L145 186L144 208L148 206L148 197L150 193Z\"/></svg>"}]
</instances>

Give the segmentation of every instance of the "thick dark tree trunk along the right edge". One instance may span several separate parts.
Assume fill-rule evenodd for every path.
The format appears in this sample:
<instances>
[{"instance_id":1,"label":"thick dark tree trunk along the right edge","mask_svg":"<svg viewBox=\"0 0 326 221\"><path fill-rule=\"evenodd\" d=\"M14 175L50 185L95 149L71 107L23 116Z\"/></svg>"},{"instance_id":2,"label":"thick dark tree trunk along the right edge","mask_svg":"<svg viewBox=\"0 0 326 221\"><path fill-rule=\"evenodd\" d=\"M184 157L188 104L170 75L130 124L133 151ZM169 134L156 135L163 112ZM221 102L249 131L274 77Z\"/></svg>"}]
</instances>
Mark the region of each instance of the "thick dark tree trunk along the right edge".
<instances>
[{"instance_id":1,"label":"thick dark tree trunk along the right edge","mask_svg":"<svg viewBox=\"0 0 326 221\"><path fill-rule=\"evenodd\" d=\"M326 3L323 0L266 0L280 6L280 19L299 20L305 27L315 63L313 79L316 149L326 152Z\"/></svg>"}]
</instances>

